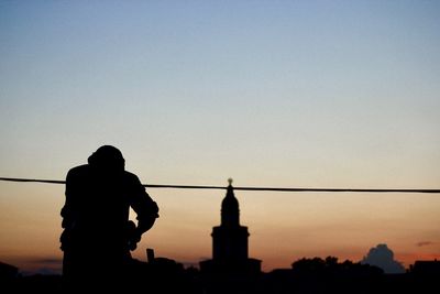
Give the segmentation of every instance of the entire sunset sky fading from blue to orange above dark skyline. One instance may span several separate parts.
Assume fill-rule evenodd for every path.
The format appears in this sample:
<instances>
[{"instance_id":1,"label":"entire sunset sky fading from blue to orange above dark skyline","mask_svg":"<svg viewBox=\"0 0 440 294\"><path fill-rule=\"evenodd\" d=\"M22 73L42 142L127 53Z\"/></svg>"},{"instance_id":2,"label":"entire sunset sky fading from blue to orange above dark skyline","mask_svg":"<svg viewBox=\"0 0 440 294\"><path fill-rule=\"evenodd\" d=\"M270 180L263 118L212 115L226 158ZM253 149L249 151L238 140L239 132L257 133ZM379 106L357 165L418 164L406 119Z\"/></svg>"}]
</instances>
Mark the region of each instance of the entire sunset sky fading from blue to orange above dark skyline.
<instances>
[{"instance_id":1,"label":"entire sunset sky fading from blue to orange above dark skyline","mask_svg":"<svg viewBox=\"0 0 440 294\"><path fill-rule=\"evenodd\" d=\"M440 187L438 1L1 1L0 176L118 146L143 183ZM134 255L211 257L224 190L148 189ZM235 192L263 269L440 258L440 196ZM63 185L0 183L0 260L59 265Z\"/></svg>"}]
</instances>

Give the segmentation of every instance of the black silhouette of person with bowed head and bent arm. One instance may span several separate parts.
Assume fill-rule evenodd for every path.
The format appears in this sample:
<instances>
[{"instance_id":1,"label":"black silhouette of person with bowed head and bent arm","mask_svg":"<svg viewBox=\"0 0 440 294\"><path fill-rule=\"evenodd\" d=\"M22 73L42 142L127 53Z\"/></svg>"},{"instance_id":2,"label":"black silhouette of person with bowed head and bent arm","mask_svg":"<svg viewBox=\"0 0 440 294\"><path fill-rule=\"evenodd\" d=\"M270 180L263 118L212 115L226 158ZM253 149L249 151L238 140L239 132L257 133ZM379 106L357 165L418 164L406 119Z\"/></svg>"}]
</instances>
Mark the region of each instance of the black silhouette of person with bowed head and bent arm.
<instances>
[{"instance_id":1,"label":"black silhouette of person with bowed head and bent arm","mask_svg":"<svg viewBox=\"0 0 440 294\"><path fill-rule=\"evenodd\" d=\"M123 281L130 273L130 250L158 217L156 203L124 163L117 148L103 145L88 164L67 173L61 249L63 275L72 284ZM130 208L138 226L129 221Z\"/></svg>"}]
</instances>

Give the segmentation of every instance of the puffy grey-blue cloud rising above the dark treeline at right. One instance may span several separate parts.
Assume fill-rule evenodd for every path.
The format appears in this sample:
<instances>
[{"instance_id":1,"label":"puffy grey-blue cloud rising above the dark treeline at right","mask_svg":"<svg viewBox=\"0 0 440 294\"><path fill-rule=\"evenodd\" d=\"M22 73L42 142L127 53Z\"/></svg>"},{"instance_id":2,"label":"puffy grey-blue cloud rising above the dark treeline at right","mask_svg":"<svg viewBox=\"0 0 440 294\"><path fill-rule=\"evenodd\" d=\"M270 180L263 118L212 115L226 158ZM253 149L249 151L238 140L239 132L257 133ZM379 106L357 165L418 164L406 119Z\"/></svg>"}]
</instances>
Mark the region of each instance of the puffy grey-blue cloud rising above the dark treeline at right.
<instances>
[{"instance_id":1,"label":"puffy grey-blue cloud rising above the dark treeline at right","mask_svg":"<svg viewBox=\"0 0 440 294\"><path fill-rule=\"evenodd\" d=\"M394 260L394 252L386 244L377 244L370 249L361 263L376 265L385 273L405 273L405 266L399 261Z\"/></svg>"}]
</instances>

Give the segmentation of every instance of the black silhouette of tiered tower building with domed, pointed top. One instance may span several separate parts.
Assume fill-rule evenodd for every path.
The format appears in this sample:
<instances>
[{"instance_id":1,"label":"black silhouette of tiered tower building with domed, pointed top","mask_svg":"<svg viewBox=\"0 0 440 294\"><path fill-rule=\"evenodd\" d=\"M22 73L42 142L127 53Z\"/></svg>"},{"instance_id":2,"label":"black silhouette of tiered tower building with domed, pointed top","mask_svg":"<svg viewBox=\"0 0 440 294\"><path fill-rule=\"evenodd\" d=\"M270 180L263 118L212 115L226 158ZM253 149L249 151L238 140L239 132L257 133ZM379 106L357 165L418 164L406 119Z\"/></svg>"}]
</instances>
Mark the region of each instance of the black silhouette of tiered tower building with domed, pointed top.
<instances>
[{"instance_id":1,"label":"black silhouette of tiered tower building with domed, pointed top","mask_svg":"<svg viewBox=\"0 0 440 294\"><path fill-rule=\"evenodd\" d=\"M240 206L232 179L221 203L220 226L212 228L212 259L200 262L205 273L261 273L261 260L249 258L248 227L240 225Z\"/></svg>"}]
</instances>

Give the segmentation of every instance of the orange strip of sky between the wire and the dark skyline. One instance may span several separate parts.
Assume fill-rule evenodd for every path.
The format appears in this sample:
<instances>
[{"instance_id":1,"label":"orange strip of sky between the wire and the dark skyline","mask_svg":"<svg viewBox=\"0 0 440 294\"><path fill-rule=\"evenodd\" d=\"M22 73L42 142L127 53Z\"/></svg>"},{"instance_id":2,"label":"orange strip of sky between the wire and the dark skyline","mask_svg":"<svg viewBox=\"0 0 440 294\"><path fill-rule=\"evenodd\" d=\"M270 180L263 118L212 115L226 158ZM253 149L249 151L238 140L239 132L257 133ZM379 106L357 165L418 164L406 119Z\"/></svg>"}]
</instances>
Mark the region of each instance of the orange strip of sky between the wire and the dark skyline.
<instances>
[{"instance_id":1,"label":"orange strip of sky between the wire and the dark skyline","mask_svg":"<svg viewBox=\"0 0 440 294\"><path fill-rule=\"evenodd\" d=\"M0 216L0 261L29 271L38 268L35 260L61 259L59 209L64 187L0 185L3 194L9 195L8 202L0 197L3 210L10 211ZM199 261L210 259L210 233L220 224L224 192L148 193L158 203L161 217L143 236L133 257L146 261L145 250L153 248L157 257L186 265L198 266ZM425 202L420 202L415 196L381 196L377 203L377 195L235 192L235 196L240 202L241 225L249 227L251 233L249 255L262 260L266 272L289 268L301 258L332 255L340 261L356 262L378 243L387 243L395 260L406 268L415 260L439 258L438 197L424 196ZM176 197L186 199L187 205L176 202ZM397 197L399 206L395 206Z\"/></svg>"}]
</instances>

